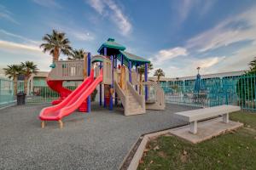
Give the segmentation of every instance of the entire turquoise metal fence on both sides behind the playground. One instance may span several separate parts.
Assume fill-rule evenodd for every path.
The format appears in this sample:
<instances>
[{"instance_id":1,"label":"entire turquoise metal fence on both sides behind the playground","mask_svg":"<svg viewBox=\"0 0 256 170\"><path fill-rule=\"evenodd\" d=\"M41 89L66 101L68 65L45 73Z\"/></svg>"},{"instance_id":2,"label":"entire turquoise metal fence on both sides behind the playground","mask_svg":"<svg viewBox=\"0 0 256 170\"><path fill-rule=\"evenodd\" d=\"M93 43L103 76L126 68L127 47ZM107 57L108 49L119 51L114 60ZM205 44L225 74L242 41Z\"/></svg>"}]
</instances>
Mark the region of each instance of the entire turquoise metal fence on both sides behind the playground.
<instances>
[{"instance_id":1,"label":"entire turquoise metal fence on both sides behind the playground","mask_svg":"<svg viewBox=\"0 0 256 170\"><path fill-rule=\"evenodd\" d=\"M64 82L71 90L81 82ZM239 105L247 111L256 111L256 74L240 77L209 78L201 80L201 90L195 93L195 80L160 82L166 94L166 103L211 107L215 105ZM15 103L15 83L0 79L0 107ZM44 78L27 84L26 103L47 103L59 98ZM17 82L17 92L24 92L24 82ZM150 93L150 90L149 90ZM150 97L150 94L149 94Z\"/></svg>"}]
</instances>

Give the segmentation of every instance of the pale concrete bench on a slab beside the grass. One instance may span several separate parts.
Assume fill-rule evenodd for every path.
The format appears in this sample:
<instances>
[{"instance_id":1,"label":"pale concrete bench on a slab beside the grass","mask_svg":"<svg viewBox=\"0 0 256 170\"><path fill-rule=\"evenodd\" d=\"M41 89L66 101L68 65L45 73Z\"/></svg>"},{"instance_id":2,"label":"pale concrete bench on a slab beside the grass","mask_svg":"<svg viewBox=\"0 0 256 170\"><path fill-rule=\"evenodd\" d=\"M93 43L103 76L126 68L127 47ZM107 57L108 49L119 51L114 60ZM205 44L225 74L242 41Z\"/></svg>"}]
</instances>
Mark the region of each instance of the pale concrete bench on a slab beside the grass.
<instances>
[{"instance_id":1,"label":"pale concrete bench on a slab beside the grass","mask_svg":"<svg viewBox=\"0 0 256 170\"><path fill-rule=\"evenodd\" d=\"M240 111L241 108L235 105L220 105L204 109L182 111L174 113L175 117L190 123L190 133L197 133L197 121L201 121L214 116L223 116L223 122L229 123L229 113Z\"/></svg>"}]
</instances>

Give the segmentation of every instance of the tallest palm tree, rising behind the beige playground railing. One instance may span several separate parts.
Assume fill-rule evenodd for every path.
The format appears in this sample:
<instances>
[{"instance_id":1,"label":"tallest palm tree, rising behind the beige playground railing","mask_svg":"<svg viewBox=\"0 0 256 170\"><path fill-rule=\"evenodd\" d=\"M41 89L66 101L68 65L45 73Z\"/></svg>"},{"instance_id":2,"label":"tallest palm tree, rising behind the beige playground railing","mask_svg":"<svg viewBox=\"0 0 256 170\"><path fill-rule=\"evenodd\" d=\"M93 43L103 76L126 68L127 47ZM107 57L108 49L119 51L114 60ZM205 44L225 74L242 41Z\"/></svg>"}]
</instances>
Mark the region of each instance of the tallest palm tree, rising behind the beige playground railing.
<instances>
[{"instance_id":1,"label":"tallest palm tree, rising behind the beige playground railing","mask_svg":"<svg viewBox=\"0 0 256 170\"><path fill-rule=\"evenodd\" d=\"M49 54L53 56L53 67L55 66L55 61L59 60L60 54L65 54L70 56L72 54L72 48L70 46L70 41L65 37L64 32L58 32L53 30L52 34L45 34L43 37L44 43L40 45L43 48L43 52L49 51Z\"/></svg>"}]
</instances>

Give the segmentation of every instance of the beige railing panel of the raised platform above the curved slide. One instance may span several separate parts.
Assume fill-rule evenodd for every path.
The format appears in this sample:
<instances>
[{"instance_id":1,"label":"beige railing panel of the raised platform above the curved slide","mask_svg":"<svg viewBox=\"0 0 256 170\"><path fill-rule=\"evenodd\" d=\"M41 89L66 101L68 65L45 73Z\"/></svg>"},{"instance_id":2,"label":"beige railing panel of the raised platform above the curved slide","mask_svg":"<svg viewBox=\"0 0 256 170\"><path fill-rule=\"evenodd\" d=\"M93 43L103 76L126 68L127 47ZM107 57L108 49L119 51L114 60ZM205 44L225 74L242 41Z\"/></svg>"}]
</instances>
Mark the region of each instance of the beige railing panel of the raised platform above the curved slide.
<instances>
[{"instance_id":1,"label":"beige railing panel of the raised platform above the curved slide","mask_svg":"<svg viewBox=\"0 0 256 170\"><path fill-rule=\"evenodd\" d=\"M84 80L84 60L55 61L49 72L51 80Z\"/></svg>"}]
</instances>

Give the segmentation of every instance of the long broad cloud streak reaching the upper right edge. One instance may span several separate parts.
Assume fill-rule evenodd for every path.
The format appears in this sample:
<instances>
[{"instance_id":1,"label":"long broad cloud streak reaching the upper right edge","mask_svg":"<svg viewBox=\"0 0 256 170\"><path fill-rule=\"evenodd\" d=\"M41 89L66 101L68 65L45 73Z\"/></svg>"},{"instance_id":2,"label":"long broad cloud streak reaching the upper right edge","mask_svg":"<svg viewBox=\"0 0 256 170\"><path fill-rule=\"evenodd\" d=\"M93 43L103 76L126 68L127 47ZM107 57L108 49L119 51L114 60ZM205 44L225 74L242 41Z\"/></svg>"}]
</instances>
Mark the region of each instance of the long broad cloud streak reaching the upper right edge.
<instances>
[{"instance_id":1,"label":"long broad cloud streak reaching the upper right edge","mask_svg":"<svg viewBox=\"0 0 256 170\"><path fill-rule=\"evenodd\" d=\"M224 47L234 42L256 40L256 8L226 19L212 29L188 40L187 48L197 48L199 52Z\"/></svg>"}]
</instances>

